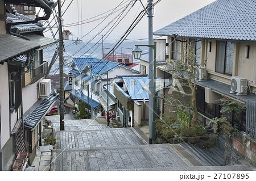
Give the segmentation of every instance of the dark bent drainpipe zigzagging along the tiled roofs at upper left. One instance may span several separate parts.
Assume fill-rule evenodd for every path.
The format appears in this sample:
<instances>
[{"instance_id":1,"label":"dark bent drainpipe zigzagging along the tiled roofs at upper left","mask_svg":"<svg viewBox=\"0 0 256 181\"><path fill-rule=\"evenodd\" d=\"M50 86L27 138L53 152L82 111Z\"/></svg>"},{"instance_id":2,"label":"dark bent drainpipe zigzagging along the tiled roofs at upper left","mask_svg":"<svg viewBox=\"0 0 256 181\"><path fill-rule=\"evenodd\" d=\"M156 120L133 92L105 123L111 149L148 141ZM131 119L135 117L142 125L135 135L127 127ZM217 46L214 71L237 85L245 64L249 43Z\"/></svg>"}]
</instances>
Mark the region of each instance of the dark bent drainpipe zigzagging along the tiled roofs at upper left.
<instances>
[{"instance_id":1,"label":"dark bent drainpipe zigzagging along the tiled roofs at upper left","mask_svg":"<svg viewBox=\"0 0 256 181\"><path fill-rule=\"evenodd\" d=\"M7 23L6 24L6 30L10 35L18 36L26 40L30 40L28 37L19 35L17 33L11 32L11 26L18 25L18 24L30 24L30 23L37 23L39 20L48 20L51 16L52 9L47 5L47 3L44 0L35 0L36 2L40 3L43 6L44 12L46 13L46 16L35 18L35 20L26 21L26 22L15 22L15 23Z\"/></svg>"}]
</instances>

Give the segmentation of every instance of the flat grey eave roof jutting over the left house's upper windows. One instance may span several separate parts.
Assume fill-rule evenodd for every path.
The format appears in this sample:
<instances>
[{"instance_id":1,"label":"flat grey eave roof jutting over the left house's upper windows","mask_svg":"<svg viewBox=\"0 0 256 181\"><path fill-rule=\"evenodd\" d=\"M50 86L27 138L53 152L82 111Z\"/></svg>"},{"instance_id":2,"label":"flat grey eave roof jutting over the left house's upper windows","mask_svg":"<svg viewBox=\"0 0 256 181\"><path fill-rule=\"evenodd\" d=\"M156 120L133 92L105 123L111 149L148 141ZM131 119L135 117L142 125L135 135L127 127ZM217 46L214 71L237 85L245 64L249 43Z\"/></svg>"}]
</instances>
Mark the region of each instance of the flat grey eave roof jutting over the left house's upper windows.
<instances>
[{"instance_id":1,"label":"flat grey eave roof jutting over the left house's upper windows","mask_svg":"<svg viewBox=\"0 0 256 181\"><path fill-rule=\"evenodd\" d=\"M7 34L0 35L0 62L39 48L40 44Z\"/></svg>"}]
</instances>

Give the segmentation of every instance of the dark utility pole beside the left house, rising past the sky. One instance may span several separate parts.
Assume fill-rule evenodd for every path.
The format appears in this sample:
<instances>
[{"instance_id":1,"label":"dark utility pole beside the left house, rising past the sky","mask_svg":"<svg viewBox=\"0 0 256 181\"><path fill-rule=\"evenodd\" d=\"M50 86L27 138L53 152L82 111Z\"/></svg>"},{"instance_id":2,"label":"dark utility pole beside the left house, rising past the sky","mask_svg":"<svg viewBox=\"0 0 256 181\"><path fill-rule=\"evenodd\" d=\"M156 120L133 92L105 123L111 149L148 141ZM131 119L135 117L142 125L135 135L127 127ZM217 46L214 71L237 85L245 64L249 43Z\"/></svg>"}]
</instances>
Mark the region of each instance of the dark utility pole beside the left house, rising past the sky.
<instances>
[{"instance_id":1,"label":"dark utility pole beside the left house, rising past the sky","mask_svg":"<svg viewBox=\"0 0 256 181\"><path fill-rule=\"evenodd\" d=\"M61 19L61 1L58 0L59 8L59 67L60 67L60 131L65 130L64 124L64 76L63 76L63 36L62 36L62 19Z\"/></svg>"}]
</instances>

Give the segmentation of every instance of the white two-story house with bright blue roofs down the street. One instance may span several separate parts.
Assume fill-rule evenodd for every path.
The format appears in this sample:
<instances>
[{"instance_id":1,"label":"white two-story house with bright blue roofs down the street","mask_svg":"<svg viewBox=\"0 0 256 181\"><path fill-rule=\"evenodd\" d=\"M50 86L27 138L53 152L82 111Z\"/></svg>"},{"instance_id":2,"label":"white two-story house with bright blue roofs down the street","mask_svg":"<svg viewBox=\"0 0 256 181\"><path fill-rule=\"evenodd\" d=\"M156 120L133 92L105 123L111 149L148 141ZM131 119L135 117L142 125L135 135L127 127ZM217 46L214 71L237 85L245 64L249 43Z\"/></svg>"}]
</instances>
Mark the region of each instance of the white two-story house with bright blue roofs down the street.
<instances>
[{"instance_id":1,"label":"white two-story house with bright blue roofs down the street","mask_svg":"<svg viewBox=\"0 0 256 181\"><path fill-rule=\"evenodd\" d=\"M71 67L70 73L73 74L71 94L75 95L76 102L80 100L85 102L88 107L92 107L93 117L104 115L102 107L105 107L105 103L102 102L103 105L101 106L98 99L100 98L103 86L108 82L107 77L110 84L119 74L139 74L139 71L117 62L93 57L74 58ZM101 77L100 80L96 79L98 75Z\"/></svg>"}]
</instances>

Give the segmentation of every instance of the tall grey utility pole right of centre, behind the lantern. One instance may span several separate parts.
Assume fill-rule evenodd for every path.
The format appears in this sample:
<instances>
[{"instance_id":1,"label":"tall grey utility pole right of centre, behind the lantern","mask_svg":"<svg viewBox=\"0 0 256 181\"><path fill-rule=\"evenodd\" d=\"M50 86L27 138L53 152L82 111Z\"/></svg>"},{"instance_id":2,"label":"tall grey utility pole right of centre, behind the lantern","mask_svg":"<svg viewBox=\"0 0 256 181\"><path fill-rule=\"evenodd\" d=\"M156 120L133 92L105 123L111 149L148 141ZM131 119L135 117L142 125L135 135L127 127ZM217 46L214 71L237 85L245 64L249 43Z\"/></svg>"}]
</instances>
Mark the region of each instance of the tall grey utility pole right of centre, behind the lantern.
<instances>
[{"instance_id":1,"label":"tall grey utility pole right of centre, behind the lantern","mask_svg":"<svg viewBox=\"0 0 256 181\"><path fill-rule=\"evenodd\" d=\"M153 45L153 0L148 0L148 45ZM156 53L156 52L155 52ZM154 113L154 52L153 49L148 47L148 78L149 82L149 144L155 144L155 116Z\"/></svg>"}]
</instances>

